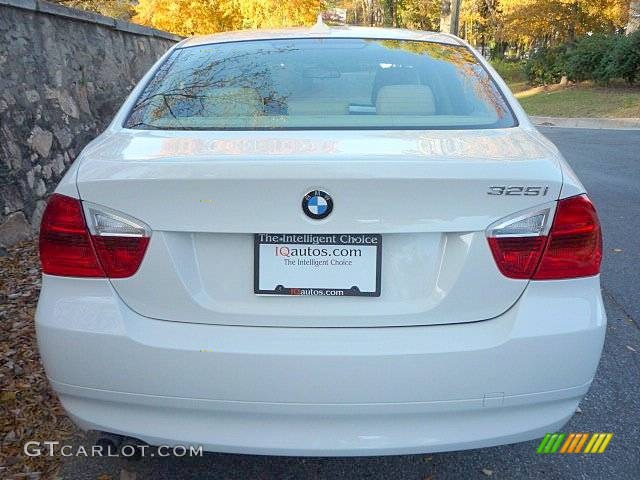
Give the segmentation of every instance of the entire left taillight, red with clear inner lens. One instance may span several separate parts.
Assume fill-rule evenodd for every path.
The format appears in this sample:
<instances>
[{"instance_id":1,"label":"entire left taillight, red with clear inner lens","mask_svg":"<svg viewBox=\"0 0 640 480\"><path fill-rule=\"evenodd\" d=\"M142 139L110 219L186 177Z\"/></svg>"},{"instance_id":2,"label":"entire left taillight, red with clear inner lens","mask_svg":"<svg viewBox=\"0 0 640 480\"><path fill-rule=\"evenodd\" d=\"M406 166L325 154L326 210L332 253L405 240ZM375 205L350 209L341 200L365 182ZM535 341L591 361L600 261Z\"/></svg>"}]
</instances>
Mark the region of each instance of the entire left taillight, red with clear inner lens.
<instances>
[{"instance_id":1,"label":"entire left taillight, red with clear inner lens","mask_svg":"<svg viewBox=\"0 0 640 480\"><path fill-rule=\"evenodd\" d=\"M54 194L40 227L42 271L70 277L130 277L142 263L150 235L144 223L123 213Z\"/></svg>"}]
</instances>

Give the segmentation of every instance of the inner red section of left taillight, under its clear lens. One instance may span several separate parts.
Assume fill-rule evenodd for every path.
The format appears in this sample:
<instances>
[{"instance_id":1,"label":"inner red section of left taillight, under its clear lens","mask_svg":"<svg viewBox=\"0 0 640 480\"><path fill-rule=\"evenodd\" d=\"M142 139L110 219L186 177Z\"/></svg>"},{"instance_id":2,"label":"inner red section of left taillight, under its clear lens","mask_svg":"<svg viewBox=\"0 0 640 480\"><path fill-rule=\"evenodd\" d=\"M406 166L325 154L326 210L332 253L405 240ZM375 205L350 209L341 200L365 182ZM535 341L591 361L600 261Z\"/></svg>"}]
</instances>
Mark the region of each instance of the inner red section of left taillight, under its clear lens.
<instances>
[{"instance_id":1,"label":"inner red section of left taillight, under its clear lens","mask_svg":"<svg viewBox=\"0 0 640 480\"><path fill-rule=\"evenodd\" d=\"M130 277L138 270L149 237L92 236L100 263L109 278Z\"/></svg>"}]
</instances>

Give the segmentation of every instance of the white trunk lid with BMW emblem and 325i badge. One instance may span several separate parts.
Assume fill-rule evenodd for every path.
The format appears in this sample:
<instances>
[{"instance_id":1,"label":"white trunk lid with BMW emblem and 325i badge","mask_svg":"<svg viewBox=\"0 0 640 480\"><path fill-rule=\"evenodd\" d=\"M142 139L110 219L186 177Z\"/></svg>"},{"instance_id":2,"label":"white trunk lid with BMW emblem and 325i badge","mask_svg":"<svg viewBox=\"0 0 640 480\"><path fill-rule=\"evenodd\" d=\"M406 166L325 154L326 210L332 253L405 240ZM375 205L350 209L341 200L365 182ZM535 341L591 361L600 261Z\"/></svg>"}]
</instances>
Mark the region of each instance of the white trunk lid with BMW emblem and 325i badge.
<instances>
[{"instance_id":1,"label":"white trunk lid with BMW emblem and 325i badge","mask_svg":"<svg viewBox=\"0 0 640 480\"><path fill-rule=\"evenodd\" d=\"M485 229L556 200L561 184L553 153L518 128L122 131L88 148L78 174L82 200L153 230L138 272L112 280L133 310L172 321L292 327L500 315L527 281L499 272ZM491 187L540 193L491 195ZM301 208L315 190L334 201L324 220ZM256 295L256 233L379 234L380 295Z\"/></svg>"}]
</instances>

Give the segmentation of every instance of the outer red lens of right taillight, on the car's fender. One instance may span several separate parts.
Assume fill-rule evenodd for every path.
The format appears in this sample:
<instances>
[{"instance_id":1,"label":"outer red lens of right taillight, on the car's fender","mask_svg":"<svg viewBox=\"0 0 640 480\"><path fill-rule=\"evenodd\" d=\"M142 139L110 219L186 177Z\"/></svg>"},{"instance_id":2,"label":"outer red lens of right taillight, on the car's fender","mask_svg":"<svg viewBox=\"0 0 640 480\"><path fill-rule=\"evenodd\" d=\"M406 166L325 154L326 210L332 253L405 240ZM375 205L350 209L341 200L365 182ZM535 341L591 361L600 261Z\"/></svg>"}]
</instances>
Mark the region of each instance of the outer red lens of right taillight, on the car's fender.
<instances>
[{"instance_id":1,"label":"outer red lens of right taillight, on the car's fender","mask_svg":"<svg viewBox=\"0 0 640 480\"><path fill-rule=\"evenodd\" d=\"M602 233L591 201L585 195L560 200L547 247L533 279L597 275L601 261Z\"/></svg>"}]
</instances>

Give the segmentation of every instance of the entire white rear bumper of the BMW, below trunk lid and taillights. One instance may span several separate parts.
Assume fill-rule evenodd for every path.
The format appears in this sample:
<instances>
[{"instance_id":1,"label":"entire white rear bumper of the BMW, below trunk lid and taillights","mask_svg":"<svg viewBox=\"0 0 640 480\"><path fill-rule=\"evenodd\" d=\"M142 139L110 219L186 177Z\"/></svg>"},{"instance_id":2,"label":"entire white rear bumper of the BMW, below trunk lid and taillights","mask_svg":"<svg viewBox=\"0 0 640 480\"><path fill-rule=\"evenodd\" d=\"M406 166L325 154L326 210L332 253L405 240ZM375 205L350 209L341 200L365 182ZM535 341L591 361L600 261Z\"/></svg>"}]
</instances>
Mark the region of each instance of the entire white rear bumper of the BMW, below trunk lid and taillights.
<instances>
[{"instance_id":1,"label":"entire white rear bumper of the BMW, below trunk lid and taillights","mask_svg":"<svg viewBox=\"0 0 640 480\"><path fill-rule=\"evenodd\" d=\"M282 455L476 448L557 430L593 379L597 277L532 282L477 323L268 328L141 317L108 281L45 276L47 374L82 428Z\"/></svg>"}]
</instances>

